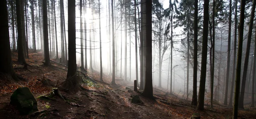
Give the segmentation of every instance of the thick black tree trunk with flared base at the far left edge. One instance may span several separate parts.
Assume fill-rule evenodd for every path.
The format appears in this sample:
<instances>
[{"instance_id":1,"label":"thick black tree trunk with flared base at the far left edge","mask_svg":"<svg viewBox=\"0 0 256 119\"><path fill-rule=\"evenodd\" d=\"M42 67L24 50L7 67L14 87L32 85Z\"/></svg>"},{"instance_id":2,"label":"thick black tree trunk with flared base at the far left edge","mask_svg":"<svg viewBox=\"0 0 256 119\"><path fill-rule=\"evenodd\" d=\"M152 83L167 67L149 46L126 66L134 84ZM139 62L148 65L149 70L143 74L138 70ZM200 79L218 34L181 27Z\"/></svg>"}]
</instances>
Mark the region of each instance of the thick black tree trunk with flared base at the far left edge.
<instances>
[{"instance_id":1,"label":"thick black tree trunk with flared base at the far left edge","mask_svg":"<svg viewBox=\"0 0 256 119\"><path fill-rule=\"evenodd\" d=\"M6 0L1 0L0 11L0 55L5 57L0 58L0 72L9 74L12 76L13 79L18 80L17 75L15 74L12 67L12 53L9 41L9 26Z\"/></svg>"}]
</instances>

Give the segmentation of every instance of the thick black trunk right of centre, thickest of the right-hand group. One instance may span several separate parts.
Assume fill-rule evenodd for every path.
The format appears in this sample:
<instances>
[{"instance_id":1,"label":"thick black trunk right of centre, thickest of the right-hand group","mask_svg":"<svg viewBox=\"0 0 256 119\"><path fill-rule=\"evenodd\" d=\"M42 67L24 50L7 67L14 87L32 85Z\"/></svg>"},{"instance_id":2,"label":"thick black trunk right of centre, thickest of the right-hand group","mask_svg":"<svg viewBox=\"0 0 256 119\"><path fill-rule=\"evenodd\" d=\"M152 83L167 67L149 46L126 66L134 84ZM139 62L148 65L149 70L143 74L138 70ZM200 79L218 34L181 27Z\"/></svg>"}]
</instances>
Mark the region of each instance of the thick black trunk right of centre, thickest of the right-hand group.
<instances>
[{"instance_id":1,"label":"thick black trunk right of centre, thickest of the right-hand group","mask_svg":"<svg viewBox=\"0 0 256 119\"><path fill-rule=\"evenodd\" d=\"M204 110L204 92L206 81L206 66L207 66L207 41L208 41L208 20L209 20L209 0L204 0L204 24L203 24L203 41L202 41L202 61L201 61L201 76L198 94L198 110Z\"/></svg>"}]
</instances>

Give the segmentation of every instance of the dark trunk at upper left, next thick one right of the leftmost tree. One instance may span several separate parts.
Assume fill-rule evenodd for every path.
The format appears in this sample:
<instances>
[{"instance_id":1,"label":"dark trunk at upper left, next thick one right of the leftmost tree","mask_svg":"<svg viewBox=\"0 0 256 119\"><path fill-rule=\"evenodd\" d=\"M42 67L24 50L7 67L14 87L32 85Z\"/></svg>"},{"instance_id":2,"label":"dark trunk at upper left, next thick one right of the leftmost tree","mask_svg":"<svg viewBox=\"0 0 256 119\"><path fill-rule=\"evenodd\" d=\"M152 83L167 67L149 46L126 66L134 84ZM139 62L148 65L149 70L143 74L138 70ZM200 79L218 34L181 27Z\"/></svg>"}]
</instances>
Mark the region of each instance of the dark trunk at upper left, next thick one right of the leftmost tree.
<instances>
[{"instance_id":1,"label":"dark trunk at upper left, next thick one right of the leftmost tree","mask_svg":"<svg viewBox=\"0 0 256 119\"><path fill-rule=\"evenodd\" d=\"M25 27L25 26L23 26L23 23L22 23L20 0L16 0L15 3L16 3L17 31L18 31L18 61L20 62L20 64L26 64L24 46L23 46L24 37L22 32L23 31L22 27Z\"/></svg>"}]
</instances>

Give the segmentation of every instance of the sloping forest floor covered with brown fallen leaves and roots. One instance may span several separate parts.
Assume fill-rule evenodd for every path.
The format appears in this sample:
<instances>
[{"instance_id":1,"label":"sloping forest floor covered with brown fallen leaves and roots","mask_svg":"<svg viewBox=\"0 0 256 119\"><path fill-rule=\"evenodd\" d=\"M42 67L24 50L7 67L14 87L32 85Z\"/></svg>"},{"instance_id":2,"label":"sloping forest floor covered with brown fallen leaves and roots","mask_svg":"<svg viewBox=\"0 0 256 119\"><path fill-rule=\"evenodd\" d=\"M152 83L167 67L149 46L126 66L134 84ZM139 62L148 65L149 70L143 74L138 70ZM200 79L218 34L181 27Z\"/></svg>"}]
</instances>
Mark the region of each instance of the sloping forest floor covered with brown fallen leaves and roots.
<instances>
[{"instance_id":1,"label":"sloping forest floor covered with brown fallen leaves and roots","mask_svg":"<svg viewBox=\"0 0 256 119\"><path fill-rule=\"evenodd\" d=\"M131 103L131 98L140 95L133 91L133 82L116 80L116 86L112 86L111 76L103 75L99 81L99 73L84 72L81 86L84 90L70 91L66 93L60 90L65 101L57 96L50 99L37 99L38 110L35 115L20 115L9 104L10 96L18 87L29 87L33 95L47 96L53 87L58 87L65 81L67 67L59 64L58 60L51 59L52 66L43 65L44 54L42 52L29 53L29 64L23 68L17 62L17 52L12 53L13 67L17 75L26 78L27 81L13 81L8 75L0 75L0 118L1 119L188 119L194 113L199 113L201 119L232 119L233 108L215 104L214 108L205 107L198 111L190 107L189 101L181 99L178 94L168 94L164 89L154 88L156 100L149 100L143 96L140 99L143 104ZM256 109L239 110L239 119L255 119Z\"/></svg>"}]
</instances>

